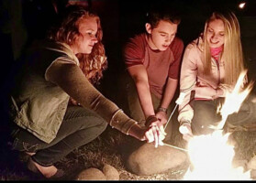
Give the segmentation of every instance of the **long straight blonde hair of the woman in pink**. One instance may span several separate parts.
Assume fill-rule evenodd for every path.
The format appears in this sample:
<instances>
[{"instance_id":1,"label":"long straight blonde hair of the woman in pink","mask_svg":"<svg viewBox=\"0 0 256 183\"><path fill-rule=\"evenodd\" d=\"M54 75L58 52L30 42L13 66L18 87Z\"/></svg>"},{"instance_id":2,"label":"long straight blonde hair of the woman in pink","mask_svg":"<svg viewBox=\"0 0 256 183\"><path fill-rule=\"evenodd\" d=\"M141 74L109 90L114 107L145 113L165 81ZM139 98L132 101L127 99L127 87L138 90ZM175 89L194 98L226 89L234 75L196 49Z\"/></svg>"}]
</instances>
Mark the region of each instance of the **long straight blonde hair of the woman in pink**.
<instances>
[{"instance_id":1,"label":"long straight blonde hair of the woman in pink","mask_svg":"<svg viewBox=\"0 0 256 183\"><path fill-rule=\"evenodd\" d=\"M240 41L240 29L238 18L232 12L219 13L214 12L212 16L206 20L204 30L204 73L211 73L211 53L206 40L206 31L208 24L211 21L220 19L224 24L224 48L221 54L221 59L224 60L225 68L225 84L234 85L239 78L239 74L244 70L244 59L242 54L242 47Z\"/></svg>"}]
</instances>

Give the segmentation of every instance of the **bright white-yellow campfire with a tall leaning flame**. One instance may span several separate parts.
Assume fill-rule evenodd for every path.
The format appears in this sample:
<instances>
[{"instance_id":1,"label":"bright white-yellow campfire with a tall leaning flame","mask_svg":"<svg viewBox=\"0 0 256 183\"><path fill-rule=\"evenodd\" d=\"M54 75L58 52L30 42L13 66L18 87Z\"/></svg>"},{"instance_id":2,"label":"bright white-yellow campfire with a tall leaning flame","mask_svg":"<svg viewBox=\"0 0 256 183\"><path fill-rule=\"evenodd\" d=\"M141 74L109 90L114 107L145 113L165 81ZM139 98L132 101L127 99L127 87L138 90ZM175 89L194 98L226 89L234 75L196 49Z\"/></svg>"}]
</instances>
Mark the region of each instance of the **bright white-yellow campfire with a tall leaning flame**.
<instances>
[{"instance_id":1,"label":"bright white-yellow campfire with a tall leaning flame","mask_svg":"<svg viewBox=\"0 0 256 183\"><path fill-rule=\"evenodd\" d=\"M243 167L232 167L235 155L234 146L228 145L228 136L224 135L224 126L228 115L238 113L241 103L252 89L252 82L241 90L246 71L243 71L233 92L227 93L225 102L219 106L222 120L217 126L210 126L215 131L210 135L198 135L188 143L188 155L191 167L184 175L187 180L250 180L250 171Z\"/></svg>"}]
</instances>

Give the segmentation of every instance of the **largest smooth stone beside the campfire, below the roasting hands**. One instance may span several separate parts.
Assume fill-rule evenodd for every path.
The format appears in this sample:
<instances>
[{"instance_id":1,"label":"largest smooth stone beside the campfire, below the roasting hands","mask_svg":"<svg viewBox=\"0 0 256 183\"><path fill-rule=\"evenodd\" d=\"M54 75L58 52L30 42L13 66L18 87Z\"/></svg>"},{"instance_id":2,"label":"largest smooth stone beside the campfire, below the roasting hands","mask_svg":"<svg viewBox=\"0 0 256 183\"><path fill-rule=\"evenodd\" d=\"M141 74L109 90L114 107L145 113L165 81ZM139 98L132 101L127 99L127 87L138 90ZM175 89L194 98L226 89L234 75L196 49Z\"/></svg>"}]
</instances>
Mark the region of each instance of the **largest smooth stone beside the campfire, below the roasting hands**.
<instances>
[{"instance_id":1,"label":"largest smooth stone beside the campfire, below the roasting hands","mask_svg":"<svg viewBox=\"0 0 256 183\"><path fill-rule=\"evenodd\" d=\"M152 143L141 145L128 156L128 170L139 176L148 176L178 167L187 160L186 154L171 146L161 145L157 148Z\"/></svg>"}]
</instances>

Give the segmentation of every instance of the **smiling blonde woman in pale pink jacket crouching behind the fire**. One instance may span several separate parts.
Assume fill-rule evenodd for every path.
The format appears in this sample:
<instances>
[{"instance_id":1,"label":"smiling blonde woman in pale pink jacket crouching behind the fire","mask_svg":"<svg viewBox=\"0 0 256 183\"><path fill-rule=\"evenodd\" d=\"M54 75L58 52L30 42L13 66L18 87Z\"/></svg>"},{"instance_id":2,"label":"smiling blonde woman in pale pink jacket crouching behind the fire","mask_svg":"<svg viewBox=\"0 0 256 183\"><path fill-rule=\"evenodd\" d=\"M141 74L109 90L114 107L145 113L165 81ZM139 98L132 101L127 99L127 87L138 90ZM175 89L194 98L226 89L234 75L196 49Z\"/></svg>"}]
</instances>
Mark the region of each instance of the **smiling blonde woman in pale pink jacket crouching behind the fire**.
<instances>
[{"instance_id":1,"label":"smiling blonde woman in pale pink jacket crouching behind the fire","mask_svg":"<svg viewBox=\"0 0 256 183\"><path fill-rule=\"evenodd\" d=\"M244 68L237 17L232 12L214 12L206 20L204 33L184 51L180 81L184 101L179 106L178 121L185 140L212 132L208 124L220 121L217 106L233 89ZM244 102L226 124L234 127L250 123L255 119L253 108L250 101Z\"/></svg>"}]
</instances>

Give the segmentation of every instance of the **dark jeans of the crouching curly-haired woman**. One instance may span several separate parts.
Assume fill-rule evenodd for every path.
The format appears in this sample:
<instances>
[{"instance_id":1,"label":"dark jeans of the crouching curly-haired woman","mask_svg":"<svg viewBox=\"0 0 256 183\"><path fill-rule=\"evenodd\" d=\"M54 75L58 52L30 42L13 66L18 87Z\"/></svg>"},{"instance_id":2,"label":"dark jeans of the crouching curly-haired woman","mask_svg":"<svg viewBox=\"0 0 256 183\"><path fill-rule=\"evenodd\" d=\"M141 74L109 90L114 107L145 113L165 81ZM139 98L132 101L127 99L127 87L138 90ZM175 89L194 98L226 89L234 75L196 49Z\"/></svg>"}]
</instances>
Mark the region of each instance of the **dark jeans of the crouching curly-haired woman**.
<instances>
[{"instance_id":1,"label":"dark jeans of the crouching curly-haired woman","mask_svg":"<svg viewBox=\"0 0 256 183\"><path fill-rule=\"evenodd\" d=\"M79 106L69 106L56 138L47 144L17 125L12 137L13 149L36 153L33 160L41 166L51 166L73 149L93 141L106 129L107 123L95 112Z\"/></svg>"}]
</instances>

